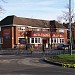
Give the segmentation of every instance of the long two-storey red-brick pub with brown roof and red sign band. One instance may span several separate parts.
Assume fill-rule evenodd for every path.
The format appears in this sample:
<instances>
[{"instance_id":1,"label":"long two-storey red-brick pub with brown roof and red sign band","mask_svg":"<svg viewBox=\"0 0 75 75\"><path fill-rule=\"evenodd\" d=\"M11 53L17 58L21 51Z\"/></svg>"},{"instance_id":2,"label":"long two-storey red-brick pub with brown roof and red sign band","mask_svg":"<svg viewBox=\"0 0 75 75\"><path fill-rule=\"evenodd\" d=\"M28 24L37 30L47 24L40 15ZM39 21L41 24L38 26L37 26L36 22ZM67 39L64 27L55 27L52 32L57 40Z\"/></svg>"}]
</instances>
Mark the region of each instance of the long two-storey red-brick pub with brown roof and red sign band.
<instances>
[{"instance_id":1,"label":"long two-storey red-brick pub with brown roof and red sign band","mask_svg":"<svg viewBox=\"0 0 75 75\"><path fill-rule=\"evenodd\" d=\"M2 48L24 48L28 45L46 48L67 43L67 29L55 20L39 20L7 16L0 21L0 46Z\"/></svg>"}]
</instances>

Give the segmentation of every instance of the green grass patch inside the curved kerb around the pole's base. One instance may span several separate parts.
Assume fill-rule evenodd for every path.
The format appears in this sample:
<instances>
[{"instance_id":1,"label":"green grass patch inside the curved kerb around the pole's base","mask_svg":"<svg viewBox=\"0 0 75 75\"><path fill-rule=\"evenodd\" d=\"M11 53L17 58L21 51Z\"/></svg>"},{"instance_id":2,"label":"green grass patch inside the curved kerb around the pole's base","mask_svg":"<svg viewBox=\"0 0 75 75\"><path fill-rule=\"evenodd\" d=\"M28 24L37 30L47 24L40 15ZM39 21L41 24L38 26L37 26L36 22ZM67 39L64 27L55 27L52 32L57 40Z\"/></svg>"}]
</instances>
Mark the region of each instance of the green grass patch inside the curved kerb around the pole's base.
<instances>
[{"instance_id":1,"label":"green grass patch inside the curved kerb around the pole's base","mask_svg":"<svg viewBox=\"0 0 75 75\"><path fill-rule=\"evenodd\" d=\"M51 58L48 58L48 60L53 61L53 62L75 64L75 54L73 54L73 55L69 55L69 54L56 55Z\"/></svg>"}]
</instances>

